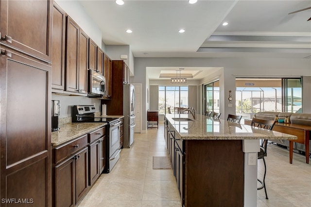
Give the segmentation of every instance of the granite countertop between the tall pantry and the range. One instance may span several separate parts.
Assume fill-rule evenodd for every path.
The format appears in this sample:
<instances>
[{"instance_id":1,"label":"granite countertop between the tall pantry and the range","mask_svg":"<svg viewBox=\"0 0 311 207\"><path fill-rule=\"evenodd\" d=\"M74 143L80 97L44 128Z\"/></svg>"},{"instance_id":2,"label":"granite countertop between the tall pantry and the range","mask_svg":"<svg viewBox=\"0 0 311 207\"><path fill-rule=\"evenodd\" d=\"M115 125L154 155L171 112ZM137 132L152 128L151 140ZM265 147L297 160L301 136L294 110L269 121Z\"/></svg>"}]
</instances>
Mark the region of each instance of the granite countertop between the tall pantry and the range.
<instances>
[{"instance_id":1,"label":"granite countertop between the tall pantry and the range","mask_svg":"<svg viewBox=\"0 0 311 207\"><path fill-rule=\"evenodd\" d=\"M107 123L67 123L59 126L59 130L51 133L52 146L58 146L71 139L78 138L96 129L99 129Z\"/></svg>"}]
</instances>

